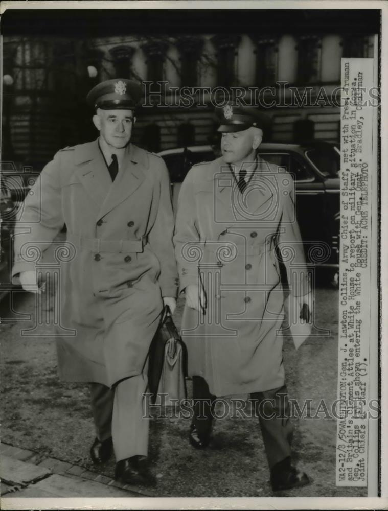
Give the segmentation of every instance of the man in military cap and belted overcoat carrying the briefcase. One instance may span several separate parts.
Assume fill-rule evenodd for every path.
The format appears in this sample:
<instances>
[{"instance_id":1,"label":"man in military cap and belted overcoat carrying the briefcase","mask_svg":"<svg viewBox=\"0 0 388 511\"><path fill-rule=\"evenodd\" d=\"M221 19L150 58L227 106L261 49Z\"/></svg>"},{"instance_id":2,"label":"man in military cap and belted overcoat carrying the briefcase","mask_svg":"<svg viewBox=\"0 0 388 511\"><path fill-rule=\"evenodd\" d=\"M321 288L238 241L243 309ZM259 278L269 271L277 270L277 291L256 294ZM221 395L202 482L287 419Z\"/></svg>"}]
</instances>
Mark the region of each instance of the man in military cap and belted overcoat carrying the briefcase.
<instances>
[{"instance_id":1,"label":"man in military cap and belted overcoat carrying the briefcase","mask_svg":"<svg viewBox=\"0 0 388 511\"><path fill-rule=\"evenodd\" d=\"M60 332L72 334L57 337L59 375L90 383L93 461L114 450L116 478L146 484L147 355L164 304L175 308L178 278L166 165L130 143L141 95L126 79L89 92L100 136L59 151L44 167L25 201L19 227L30 233L15 236L13 275L42 292L29 250L47 248L66 224L73 256L61 264L59 321Z\"/></svg>"}]
</instances>

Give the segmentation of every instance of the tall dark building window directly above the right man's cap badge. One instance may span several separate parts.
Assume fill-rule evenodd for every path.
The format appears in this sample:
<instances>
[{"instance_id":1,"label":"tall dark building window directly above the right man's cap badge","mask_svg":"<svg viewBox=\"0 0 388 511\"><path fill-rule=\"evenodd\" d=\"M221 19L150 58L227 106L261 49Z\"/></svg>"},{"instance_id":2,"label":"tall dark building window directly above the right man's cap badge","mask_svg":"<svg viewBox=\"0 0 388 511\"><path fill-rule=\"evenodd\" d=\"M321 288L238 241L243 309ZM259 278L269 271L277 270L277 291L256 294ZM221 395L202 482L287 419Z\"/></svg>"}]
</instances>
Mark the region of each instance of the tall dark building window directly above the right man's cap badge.
<instances>
[{"instance_id":1,"label":"tall dark building window directly above the right man's cap badge","mask_svg":"<svg viewBox=\"0 0 388 511\"><path fill-rule=\"evenodd\" d=\"M237 47L241 37L238 35L216 35L212 42L217 48L217 84L232 87L236 82Z\"/></svg>"}]
</instances>

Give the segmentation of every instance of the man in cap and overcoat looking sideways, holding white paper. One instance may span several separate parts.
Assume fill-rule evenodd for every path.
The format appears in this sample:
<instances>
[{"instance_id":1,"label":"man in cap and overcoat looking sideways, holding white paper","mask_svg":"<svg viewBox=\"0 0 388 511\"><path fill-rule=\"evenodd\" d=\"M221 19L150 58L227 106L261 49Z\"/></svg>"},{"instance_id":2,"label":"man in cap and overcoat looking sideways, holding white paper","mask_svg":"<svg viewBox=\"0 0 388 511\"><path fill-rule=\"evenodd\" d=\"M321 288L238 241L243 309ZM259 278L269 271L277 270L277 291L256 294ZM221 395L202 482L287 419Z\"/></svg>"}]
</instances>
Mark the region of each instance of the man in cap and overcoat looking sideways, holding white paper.
<instances>
[{"instance_id":1,"label":"man in cap and overcoat looking sideways, holding white paper","mask_svg":"<svg viewBox=\"0 0 388 511\"><path fill-rule=\"evenodd\" d=\"M174 235L180 291L186 294L182 338L193 377L189 438L196 448L208 446L216 396L251 394L272 488L284 490L309 482L290 459L280 332L284 295L277 251L283 255L292 303L304 311L301 321L309 319L310 287L293 180L256 154L266 116L232 104L218 114L222 156L189 171Z\"/></svg>"}]
</instances>

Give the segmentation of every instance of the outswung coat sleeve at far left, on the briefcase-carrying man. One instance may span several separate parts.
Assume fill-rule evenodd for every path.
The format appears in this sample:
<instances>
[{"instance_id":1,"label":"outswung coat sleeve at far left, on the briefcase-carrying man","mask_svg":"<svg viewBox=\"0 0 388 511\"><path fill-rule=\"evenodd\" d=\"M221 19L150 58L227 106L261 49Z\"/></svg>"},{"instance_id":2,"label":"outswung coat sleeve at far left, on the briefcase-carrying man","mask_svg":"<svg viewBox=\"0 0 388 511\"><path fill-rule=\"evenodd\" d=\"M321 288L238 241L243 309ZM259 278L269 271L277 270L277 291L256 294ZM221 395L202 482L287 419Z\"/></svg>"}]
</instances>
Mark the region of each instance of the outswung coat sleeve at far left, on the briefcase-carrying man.
<instances>
[{"instance_id":1,"label":"outswung coat sleeve at far left, on the briefcase-carrying man","mask_svg":"<svg viewBox=\"0 0 388 511\"><path fill-rule=\"evenodd\" d=\"M13 237L13 282L22 271L34 270L40 255L62 229L60 155L44 167L27 195Z\"/></svg>"}]
</instances>

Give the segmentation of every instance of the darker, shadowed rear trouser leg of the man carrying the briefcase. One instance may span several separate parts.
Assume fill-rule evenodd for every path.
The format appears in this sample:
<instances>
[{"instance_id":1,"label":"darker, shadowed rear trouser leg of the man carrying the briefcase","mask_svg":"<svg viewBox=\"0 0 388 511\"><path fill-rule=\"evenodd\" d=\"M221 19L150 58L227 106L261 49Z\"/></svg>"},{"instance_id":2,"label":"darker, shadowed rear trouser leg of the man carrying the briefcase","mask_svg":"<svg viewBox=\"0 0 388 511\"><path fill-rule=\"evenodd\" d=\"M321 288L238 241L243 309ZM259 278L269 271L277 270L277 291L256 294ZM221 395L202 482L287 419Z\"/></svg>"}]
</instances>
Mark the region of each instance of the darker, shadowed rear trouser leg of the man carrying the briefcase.
<instances>
[{"instance_id":1,"label":"darker, shadowed rear trouser leg of the man carrying the briefcase","mask_svg":"<svg viewBox=\"0 0 388 511\"><path fill-rule=\"evenodd\" d=\"M114 394L109 387L101 383L90 383L89 389L96 436L100 442L104 442L104 440L112 436L111 423Z\"/></svg>"}]
</instances>

